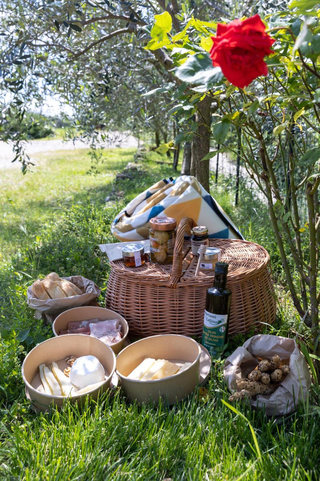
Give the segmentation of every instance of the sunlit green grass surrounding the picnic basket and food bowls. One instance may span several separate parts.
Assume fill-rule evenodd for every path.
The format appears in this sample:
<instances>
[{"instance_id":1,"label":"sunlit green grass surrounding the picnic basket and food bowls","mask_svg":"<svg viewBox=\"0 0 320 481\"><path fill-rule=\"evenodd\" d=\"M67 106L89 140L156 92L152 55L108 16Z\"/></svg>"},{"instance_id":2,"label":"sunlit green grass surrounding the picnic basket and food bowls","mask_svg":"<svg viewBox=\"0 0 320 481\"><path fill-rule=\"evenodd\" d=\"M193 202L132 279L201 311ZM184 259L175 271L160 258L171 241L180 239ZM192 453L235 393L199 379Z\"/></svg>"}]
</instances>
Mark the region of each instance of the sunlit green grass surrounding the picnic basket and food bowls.
<instances>
[{"instance_id":1,"label":"sunlit green grass surrounding the picnic basket and food bowls","mask_svg":"<svg viewBox=\"0 0 320 481\"><path fill-rule=\"evenodd\" d=\"M0 479L318 480L319 389L312 386L308 403L279 419L238 404L246 420L222 403L228 399L222 362L212 367L208 395L201 397L196 390L171 407L129 403L119 389L114 397L105 394L99 403L87 403L81 410L68 403L60 413L52 410L37 416L30 410L21 364L25 354L52 332L34 319L26 304L26 288L52 270L61 276L81 273L102 288L99 302L104 305L109 266L98 243L114 241L110 224L125 203L156 180L174 175L170 166L152 162L159 159L152 153L149 160L139 160L143 173L115 180L133 154L120 149L104 152L97 175L86 174L90 160L83 150L41 155L35 172L25 177L14 169L3 171ZM248 240L268 248L273 271L280 272L266 209L253 204L243 190L236 210L231 192L224 183L213 194ZM109 195L115 200L106 204ZM278 291L277 322L263 330L290 335L298 319L285 288L279 285ZM244 340L245 336L235 336L229 352Z\"/></svg>"}]
</instances>

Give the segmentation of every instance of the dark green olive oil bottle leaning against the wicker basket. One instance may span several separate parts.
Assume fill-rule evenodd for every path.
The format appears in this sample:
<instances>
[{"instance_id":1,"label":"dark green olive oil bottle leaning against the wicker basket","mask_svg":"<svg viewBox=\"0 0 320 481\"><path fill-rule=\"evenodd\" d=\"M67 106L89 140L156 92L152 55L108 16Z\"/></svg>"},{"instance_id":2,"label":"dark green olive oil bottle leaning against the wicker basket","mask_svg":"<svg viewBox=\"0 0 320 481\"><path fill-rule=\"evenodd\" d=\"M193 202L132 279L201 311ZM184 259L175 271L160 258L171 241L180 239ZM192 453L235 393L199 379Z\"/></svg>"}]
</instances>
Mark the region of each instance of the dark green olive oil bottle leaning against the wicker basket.
<instances>
[{"instance_id":1,"label":"dark green olive oil bottle leaning against the wicker basket","mask_svg":"<svg viewBox=\"0 0 320 481\"><path fill-rule=\"evenodd\" d=\"M213 287L207 290L202 344L211 356L222 352L228 339L231 291L227 287L228 264L217 262Z\"/></svg>"}]
</instances>

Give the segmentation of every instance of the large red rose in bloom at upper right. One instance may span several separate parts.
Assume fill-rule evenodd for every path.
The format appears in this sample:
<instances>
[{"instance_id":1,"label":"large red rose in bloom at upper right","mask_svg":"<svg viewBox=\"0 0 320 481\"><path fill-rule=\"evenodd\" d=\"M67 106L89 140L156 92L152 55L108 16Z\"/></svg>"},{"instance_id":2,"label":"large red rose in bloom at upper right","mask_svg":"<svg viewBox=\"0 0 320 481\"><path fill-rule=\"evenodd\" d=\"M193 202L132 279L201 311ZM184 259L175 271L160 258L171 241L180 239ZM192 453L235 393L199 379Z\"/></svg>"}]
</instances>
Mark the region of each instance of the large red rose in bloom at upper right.
<instances>
[{"instance_id":1,"label":"large red rose in bloom at upper right","mask_svg":"<svg viewBox=\"0 0 320 481\"><path fill-rule=\"evenodd\" d=\"M265 30L259 15L254 15L228 25L218 24L216 37L211 37L213 66L221 67L229 82L240 89L259 75L268 74L263 58L272 53L270 47L274 40Z\"/></svg>"}]
</instances>

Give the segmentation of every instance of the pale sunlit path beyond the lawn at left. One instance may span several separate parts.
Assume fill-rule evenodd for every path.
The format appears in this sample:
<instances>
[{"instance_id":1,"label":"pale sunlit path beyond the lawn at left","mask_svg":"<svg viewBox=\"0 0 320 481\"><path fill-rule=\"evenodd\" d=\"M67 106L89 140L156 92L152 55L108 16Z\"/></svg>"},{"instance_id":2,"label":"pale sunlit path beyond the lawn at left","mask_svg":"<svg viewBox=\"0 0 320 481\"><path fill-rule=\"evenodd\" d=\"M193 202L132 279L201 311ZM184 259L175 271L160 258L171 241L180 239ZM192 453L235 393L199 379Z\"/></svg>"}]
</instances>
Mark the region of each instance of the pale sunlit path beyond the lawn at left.
<instances>
[{"instance_id":1,"label":"pale sunlit path beyond the lawn at left","mask_svg":"<svg viewBox=\"0 0 320 481\"><path fill-rule=\"evenodd\" d=\"M60 150L74 150L74 149L88 149L89 141L82 140L62 140L62 139L52 139L52 140L32 140L26 142L26 153L31 159L33 155L39 152L54 152ZM113 149L115 147L127 148L137 148L138 140L130 134L119 134L114 132L112 134L112 139L110 142L104 142L101 144L105 148ZM12 143L6 143L0 141L0 169L10 169L10 168L20 168L20 162L11 162L13 159ZM40 159L35 160L36 164L39 164Z\"/></svg>"}]
</instances>

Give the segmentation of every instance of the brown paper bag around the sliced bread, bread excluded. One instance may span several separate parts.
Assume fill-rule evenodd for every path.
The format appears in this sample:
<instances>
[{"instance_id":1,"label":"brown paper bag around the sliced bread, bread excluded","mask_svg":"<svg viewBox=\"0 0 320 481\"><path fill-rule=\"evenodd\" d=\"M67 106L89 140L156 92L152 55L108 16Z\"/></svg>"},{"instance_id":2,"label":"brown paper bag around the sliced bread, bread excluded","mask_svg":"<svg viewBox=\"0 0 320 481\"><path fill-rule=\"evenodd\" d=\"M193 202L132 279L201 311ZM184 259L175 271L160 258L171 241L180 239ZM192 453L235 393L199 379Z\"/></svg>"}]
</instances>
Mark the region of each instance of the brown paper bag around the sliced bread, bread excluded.
<instances>
[{"instance_id":1,"label":"brown paper bag around the sliced bread, bread excluded","mask_svg":"<svg viewBox=\"0 0 320 481\"><path fill-rule=\"evenodd\" d=\"M93 280L86 279L82 276L62 277L75 284L84 294L63 297L62 299L47 299L41 301L34 295L31 286L27 289L27 303L31 309L36 309L35 318L44 319L48 324L52 324L54 319L64 311L81 305L89 305L100 295L101 290L96 286Z\"/></svg>"}]
</instances>

